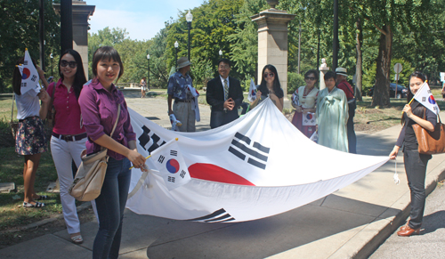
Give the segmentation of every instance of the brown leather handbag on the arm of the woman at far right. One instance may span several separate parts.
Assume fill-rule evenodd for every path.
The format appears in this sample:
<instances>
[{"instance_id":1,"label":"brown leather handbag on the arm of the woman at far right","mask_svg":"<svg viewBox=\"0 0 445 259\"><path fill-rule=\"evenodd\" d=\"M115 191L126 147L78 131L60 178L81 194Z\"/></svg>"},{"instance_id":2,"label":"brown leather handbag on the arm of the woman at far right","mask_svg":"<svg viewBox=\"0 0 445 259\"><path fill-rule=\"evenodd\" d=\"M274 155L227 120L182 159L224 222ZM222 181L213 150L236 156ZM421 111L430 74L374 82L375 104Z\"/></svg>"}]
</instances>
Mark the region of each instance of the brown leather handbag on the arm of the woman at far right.
<instances>
[{"instance_id":1,"label":"brown leather handbag on the arm of the woman at far right","mask_svg":"<svg viewBox=\"0 0 445 259\"><path fill-rule=\"evenodd\" d=\"M445 125L441 123L439 114L437 117L439 118L439 122L434 127L433 132L425 130L421 125L413 125L418 142L418 152L420 154L433 155L445 153Z\"/></svg>"}]
</instances>

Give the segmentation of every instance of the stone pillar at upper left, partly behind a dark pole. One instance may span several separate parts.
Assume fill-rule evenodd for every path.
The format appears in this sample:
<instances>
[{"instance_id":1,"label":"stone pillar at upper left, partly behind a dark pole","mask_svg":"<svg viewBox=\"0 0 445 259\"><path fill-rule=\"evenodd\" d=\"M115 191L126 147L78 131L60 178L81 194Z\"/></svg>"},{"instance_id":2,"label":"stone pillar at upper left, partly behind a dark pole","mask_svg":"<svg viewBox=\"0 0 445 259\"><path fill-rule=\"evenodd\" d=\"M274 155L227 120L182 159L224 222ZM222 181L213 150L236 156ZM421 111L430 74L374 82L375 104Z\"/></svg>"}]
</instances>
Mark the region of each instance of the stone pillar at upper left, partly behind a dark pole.
<instances>
[{"instance_id":1,"label":"stone pillar at upper left, partly behind a dark pole","mask_svg":"<svg viewBox=\"0 0 445 259\"><path fill-rule=\"evenodd\" d=\"M84 1L73 0L73 49L84 62L85 77L88 80L88 20L93 16L95 5L87 5ZM61 11L61 4L53 4L56 12Z\"/></svg>"}]
</instances>

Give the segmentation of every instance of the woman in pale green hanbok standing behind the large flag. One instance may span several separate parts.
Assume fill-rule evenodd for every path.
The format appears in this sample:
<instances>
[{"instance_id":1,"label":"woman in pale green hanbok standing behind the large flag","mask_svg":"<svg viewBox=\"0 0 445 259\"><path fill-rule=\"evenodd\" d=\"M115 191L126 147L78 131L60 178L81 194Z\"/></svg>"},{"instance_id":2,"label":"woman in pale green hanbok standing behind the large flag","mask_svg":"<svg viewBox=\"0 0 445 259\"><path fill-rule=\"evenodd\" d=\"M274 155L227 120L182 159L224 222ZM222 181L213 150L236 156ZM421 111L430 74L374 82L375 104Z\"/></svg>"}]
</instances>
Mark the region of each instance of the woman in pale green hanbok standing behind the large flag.
<instances>
[{"instance_id":1,"label":"woman in pale green hanbok standing behind the large flag","mask_svg":"<svg viewBox=\"0 0 445 259\"><path fill-rule=\"evenodd\" d=\"M320 145L348 152L348 101L343 90L336 88L336 73L328 71L326 88L317 98L317 123Z\"/></svg>"}]
</instances>

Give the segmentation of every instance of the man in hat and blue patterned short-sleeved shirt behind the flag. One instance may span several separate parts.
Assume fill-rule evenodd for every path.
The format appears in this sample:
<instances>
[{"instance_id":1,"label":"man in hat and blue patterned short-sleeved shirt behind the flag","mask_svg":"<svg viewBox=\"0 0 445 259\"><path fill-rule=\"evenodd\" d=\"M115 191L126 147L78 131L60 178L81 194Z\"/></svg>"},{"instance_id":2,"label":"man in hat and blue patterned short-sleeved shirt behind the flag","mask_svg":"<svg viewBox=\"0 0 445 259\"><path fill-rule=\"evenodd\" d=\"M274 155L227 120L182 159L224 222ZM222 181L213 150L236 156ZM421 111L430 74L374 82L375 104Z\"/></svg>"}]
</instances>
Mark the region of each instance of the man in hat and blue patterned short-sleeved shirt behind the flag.
<instances>
[{"instance_id":1,"label":"man in hat and blue patterned short-sleeved shirt behind the flag","mask_svg":"<svg viewBox=\"0 0 445 259\"><path fill-rule=\"evenodd\" d=\"M192 80L189 75L191 62L182 57L178 60L178 71L168 79L168 115L174 114L181 121L179 126L181 132L195 132L195 110L192 106L193 94L190 92ZM172 109L172 101L173 109ZM198 100L196 100L198 101Z\"/></svg>"}]
</instances>

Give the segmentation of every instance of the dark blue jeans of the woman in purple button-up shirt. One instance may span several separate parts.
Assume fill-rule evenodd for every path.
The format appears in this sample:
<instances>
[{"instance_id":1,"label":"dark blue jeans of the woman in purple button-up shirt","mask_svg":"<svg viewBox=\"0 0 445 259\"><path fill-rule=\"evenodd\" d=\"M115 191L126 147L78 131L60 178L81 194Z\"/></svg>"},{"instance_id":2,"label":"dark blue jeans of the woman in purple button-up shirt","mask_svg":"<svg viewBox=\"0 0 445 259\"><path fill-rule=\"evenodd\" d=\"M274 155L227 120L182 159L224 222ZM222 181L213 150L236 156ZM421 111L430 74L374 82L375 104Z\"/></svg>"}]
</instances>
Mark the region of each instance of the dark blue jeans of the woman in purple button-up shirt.
<instances>
[{"instance_id":1,"label":"dark blue jeans of the woman in purple button-up shirt","mask_svg":"<svg viewBox=\"0 0 445 259\"><path fill-rule=\"evenodd\" d=\"M99 231L93 243L94 259L117 258L119 255L124 209L132 177L130 166L127 158L109 158L101 195L95 199Z\"/></svg>"}]
</instances>

